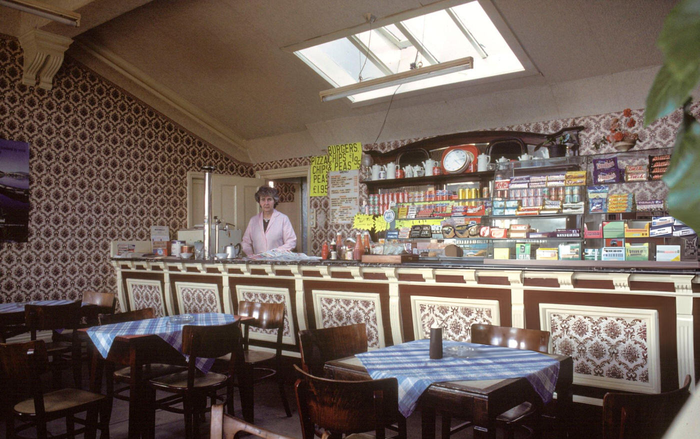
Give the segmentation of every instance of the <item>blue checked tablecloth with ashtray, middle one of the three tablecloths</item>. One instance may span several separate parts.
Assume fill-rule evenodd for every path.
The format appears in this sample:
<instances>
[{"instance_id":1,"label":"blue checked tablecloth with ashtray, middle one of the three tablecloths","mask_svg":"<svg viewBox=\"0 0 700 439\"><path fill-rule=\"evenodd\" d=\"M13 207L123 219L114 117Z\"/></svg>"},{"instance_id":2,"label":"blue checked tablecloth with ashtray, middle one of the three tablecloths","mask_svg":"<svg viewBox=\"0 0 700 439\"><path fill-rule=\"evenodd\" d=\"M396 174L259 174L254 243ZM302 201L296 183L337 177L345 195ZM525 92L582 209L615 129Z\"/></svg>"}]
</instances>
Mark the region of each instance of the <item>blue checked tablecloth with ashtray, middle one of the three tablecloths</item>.
<instances>
[{"instance_id":1,"label":"blue checked tablecloth with ashtray, middle one of the three tablecloths","mask_svg":"<svg viewBox=\"0 0 700 439\"><path fill-rule=\"evenodd\" d=\"M109 349L118 335L149 335L155 334L168 342L172 347L182 352L182 327L223 325L235 321L232 314L218 314L207 312L202 314L188 314L194 317L194 321L188 323L174 323L171 317L159 317L158 319L146 319L113 323L111 325L93 326L87 329L87 335L103 358L107 358ZM177 316L176 316L177 317ZM197 358L197 368L202 372L208 372L214 358Z\"/></svg>"}]
</instances>

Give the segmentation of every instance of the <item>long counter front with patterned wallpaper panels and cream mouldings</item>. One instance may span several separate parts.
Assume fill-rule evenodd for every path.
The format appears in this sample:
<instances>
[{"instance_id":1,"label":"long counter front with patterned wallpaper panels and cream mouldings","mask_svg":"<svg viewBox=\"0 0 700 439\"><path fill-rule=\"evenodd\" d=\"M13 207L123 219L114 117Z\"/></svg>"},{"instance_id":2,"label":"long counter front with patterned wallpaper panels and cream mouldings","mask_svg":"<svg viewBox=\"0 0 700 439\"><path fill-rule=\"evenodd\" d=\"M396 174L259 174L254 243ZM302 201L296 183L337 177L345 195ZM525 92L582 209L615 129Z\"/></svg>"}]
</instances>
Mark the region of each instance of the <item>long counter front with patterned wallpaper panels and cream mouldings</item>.
<instances>
[{"instance_id":1,"label":"long counter front with patterned wallpaper panels and cream mouldings","mask_svg":"<svg viewBox=\"0 0 700 439\"><path fill-rule=\"evenodd\" d=\"M371 349L426 337L435 318L456 340L468 340L471 323L549 330L552 352L573 357L582 402L599 404L612 389L667 391L697 376L697 263L504 262L112 261L122 310L235 314L239 300L284 302L290 356L299 356L296 334L305 328L365 322ZM253 338L262 347L274 341Z\"/></svg>"}]
</instances>

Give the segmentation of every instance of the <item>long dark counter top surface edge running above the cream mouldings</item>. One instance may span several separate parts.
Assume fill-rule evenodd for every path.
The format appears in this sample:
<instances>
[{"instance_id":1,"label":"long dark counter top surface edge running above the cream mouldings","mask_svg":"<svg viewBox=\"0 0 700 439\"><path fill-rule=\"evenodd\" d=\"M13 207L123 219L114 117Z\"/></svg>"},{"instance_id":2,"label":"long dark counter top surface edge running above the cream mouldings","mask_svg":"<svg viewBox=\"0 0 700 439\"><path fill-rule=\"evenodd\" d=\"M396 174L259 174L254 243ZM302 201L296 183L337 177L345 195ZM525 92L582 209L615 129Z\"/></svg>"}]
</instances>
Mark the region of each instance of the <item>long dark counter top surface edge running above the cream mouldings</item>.
<instances>
[{"instance_id":1,"label":"long dark counter top surface edge running above the cream mouldings","mask_svg":"<svg viewBox=\"0 0 700 439\"><path fill-rule=\"evenodd\" d=\"M421 267L440 269L479 269L479 270L531 270L531 271L567 271L567 272L643 272L643 273L685 273L700 274L697 261L657 262L649 261L615 261L615 260L500 260L484 258L423 258L408 263L360 263L356 260L272 260L246 258L225 260L181 259L174 257L159 258L112 258L116 263L130 261L147 261L150 263L184 263L184 264L232 264L232 265L304 265L330 267Z\"/></svg>"}]
</instances>

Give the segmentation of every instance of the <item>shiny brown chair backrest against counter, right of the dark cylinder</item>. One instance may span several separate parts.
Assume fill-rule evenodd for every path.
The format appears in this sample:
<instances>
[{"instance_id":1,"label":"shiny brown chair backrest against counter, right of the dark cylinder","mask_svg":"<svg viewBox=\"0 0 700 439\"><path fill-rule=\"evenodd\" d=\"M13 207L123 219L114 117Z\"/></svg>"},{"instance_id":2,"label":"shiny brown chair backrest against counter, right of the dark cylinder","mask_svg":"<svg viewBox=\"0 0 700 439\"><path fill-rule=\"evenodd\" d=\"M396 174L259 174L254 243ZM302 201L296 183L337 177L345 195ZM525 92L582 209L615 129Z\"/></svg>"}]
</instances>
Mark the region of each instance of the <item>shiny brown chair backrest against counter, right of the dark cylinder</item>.
<instances>
[{"instance_id":1,"label":"shiny brown chair backrest against counter, right of the dark cylinder","mask_svg":"<svg viewBox=\"0 0 700 439\"><path fill-rule=\"evenodd\" d=\"M549 351L549 331L474 323L472 325L472 343L547 353Z\"/></svg>"}]
</instances>

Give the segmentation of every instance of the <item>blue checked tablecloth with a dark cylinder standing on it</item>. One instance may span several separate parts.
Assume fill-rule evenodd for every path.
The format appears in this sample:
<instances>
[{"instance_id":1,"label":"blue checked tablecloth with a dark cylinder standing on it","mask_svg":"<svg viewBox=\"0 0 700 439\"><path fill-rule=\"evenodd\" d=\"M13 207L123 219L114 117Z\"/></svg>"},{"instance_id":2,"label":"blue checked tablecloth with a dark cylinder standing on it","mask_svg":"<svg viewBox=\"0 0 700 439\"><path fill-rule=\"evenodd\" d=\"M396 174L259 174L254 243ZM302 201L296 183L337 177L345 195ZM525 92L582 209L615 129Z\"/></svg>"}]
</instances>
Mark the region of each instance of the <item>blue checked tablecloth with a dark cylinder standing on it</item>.
<instances>
[{"instance_id":1,"label":"blue checked tablecloth with a dark cylinder standing on it","mask_svg":"<svg viewBox=\"0 0 700 439\"><path fill-rule=\"evenodd\" d=\"M526 377L545 403L552 400L559 361L535 351L443 341L443 356L431 360L430 340L416 340L357 354L372 379L398 379L398 407L405 417L416 408L421 393L434 382ZM468 358L448 356L455 346L475 347Z\"/></svg>"}]
</instances>

